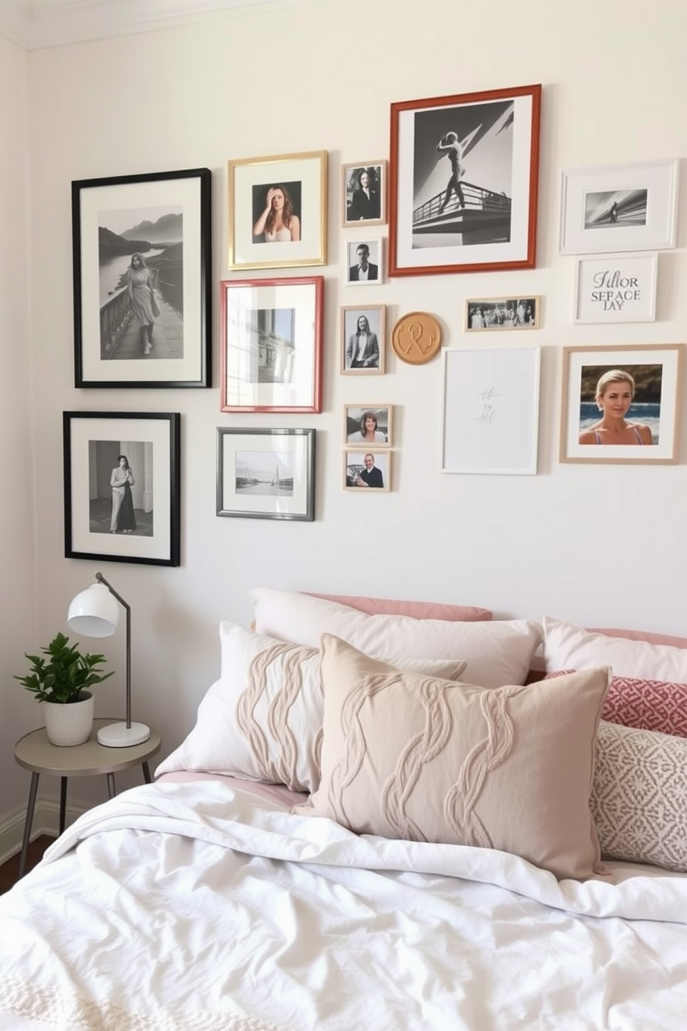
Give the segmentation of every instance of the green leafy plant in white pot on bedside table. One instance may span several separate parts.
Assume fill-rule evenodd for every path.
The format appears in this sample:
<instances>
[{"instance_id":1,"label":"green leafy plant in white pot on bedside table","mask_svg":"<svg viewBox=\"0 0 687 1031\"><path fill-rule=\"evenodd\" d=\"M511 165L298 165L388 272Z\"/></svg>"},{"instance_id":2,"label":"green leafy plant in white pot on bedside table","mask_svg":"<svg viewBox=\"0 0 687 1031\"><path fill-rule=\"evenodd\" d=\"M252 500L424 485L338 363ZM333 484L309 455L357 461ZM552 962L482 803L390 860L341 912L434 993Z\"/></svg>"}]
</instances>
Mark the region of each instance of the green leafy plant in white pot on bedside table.
<instances>
[{"instance_id":1,"label":"green leafy plant in white pot on bedside table","mask_svg":"<svg viewBox=\"0 0 687 1031\"><path fill-rule=\"evenodd\" d=\"M111 676L102 672L102 655L81 654L78 644L70 644L58 633L39 655L29 655L31 672L14 675L27 691L45 704L45 731L53 744L81 744L93 728L94 700L89 688Z\"/></svg>"}]
</instances>

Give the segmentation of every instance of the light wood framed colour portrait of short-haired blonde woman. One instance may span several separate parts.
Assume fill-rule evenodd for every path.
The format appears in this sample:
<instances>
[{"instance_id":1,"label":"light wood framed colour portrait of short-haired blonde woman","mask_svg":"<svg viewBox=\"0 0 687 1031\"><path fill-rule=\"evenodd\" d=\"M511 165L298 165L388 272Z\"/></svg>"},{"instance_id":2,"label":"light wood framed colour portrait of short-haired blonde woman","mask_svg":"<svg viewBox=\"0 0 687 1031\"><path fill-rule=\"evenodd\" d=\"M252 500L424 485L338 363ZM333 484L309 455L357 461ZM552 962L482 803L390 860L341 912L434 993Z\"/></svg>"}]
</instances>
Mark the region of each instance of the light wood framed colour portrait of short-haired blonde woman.
<instances>
[{"instance_id":1,"label":"light wood framed colour portrait of short-haired blonde woman","mask_svg":"<svg viewBox=\"0 0 687 1031\"><path fill-rule=\"evenodd\" d=\"M683 344L563 347L561 462L674 464Z\"/></svg>"}]
</instances>

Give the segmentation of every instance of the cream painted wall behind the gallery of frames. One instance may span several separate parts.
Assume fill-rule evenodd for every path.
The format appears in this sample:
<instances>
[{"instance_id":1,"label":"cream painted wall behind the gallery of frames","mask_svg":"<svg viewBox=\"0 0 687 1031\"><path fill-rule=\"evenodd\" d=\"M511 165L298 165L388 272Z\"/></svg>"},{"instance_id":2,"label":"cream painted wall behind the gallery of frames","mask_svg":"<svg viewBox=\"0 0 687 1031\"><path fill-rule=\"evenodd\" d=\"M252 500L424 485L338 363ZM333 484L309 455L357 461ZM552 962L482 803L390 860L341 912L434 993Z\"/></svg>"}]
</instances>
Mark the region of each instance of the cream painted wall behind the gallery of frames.
<instances>
[{"instance_id":1,"label":"cream painted wall behind the gallery of frames","mask_svg":"<svg viewBox=\"0 0 687 1031\"><path fill-rule=\"evenodd\" d=\"M25 646L64 628L70 597L101 565L132 602L135 714L160 727L165 752L187 731L217 675L218 621L250 620L253 585L438 599L485 605L503 618L549 613L587 625L686 633L687 422L676 466L557 461L562 345L685 340L684 160L679 246L661 255L655 323L574 326L575 260L556 253L561 168L684 159L686 49L683 0L369 0L365 8L319 0L30 54L30 292L38 399L32 439L41 498L36 558L47 587L36 619L25 621L12 641L8 668ZM389 352L384 377L338 374L339 309L360 299L344 285L344 241L352 231L339 228L340 166L388 155L391 101L529 82L544 86L537 269L397 279L365 294L366 302L388 305L389 326L410 310L436 313L449 346L467 342L460 329L466 297L542 295L542 328L527 337L543 348L539 474L445 475L440 360L413 367ZM231 277L228 159L319 148L331 159L320 415L221 414L216 388L74 389L72 179L211 168L217 299L218 281ZM218 303L213 322L217 370ZM375 401L399 406L394 484L391 493L364 498L340 488L342 406ZM22 407L12 407L23 418ZM62 557L65 409L181 412L180 568ZM316 522L217 519L217 426L315 427ZM5 442L8 432L18 433L13 423ZM123 669L123 640L107 645ZM103 686L99 712L116 711L121 687L121 679ZM22 784L9 803L20 805L24 790ZM90 798L96 788L79 783L74 792Z\"/></svg>"}]
</instances>

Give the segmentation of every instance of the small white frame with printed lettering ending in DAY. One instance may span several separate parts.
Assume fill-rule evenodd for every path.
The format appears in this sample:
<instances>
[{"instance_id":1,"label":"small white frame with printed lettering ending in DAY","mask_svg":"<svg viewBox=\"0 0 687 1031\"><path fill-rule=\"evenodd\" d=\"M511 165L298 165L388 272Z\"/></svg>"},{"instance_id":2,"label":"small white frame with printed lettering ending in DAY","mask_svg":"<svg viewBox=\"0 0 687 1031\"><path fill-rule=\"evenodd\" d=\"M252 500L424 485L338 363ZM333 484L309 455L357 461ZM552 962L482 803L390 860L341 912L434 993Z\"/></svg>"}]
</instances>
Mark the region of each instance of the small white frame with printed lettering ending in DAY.
<instances>
[{"instance_id":1,"label":"small white frame with printed lettering ending in DAY","mask_svg":"<svg viewBox=\"0 0 687 1031\"><path fill-rule=\"evenodd\" d=\"M654 322L658 253L578 258L574 323Z\"/></svg>"}]
</instances>

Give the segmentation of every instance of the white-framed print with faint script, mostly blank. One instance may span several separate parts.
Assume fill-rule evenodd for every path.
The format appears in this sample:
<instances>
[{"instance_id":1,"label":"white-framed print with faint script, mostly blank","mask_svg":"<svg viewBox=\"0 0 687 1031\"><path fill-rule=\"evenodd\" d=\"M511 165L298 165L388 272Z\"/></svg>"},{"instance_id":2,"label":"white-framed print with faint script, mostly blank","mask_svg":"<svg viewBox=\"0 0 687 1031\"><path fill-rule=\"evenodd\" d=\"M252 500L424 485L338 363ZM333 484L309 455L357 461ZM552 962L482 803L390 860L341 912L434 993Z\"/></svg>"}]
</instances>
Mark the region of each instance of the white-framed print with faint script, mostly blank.
<instances>
[{"instance_id":1,"label":"white-framed print with faint script, mostly blank","mask_svg":"<svg viewBox=\"0 0 687 1031\"><path fill-rule=\"evenodd\" d=\"M442 472L536 475L540 351L444 352Z\"/></svg>"}]
</instances>

